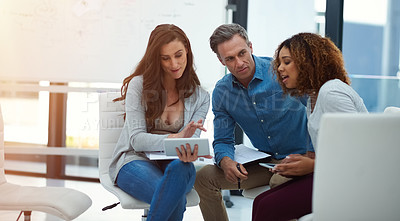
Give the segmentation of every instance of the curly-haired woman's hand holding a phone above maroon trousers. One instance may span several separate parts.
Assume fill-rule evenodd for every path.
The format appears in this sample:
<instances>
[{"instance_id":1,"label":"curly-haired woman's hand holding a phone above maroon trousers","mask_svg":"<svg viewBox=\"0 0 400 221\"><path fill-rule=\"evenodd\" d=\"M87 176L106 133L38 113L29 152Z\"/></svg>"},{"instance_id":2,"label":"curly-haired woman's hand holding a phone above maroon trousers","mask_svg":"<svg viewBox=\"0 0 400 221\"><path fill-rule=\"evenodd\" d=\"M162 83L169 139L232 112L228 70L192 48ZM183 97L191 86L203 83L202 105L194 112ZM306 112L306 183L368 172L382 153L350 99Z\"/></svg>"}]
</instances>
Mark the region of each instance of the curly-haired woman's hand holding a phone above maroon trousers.
<instances>
[{"instance_id":1,"label":"curly-haired woman's hand holding a phone above maroon trousers","mask_svg":"<svg viewBox=\"0 0 400 221\"><path fill-rule=\"evenodd\" d=\"M314 159L300 154L291 154L271 169L271 172L286 177L303 176L314 172Z\"/></svg>"}]
</instances>

